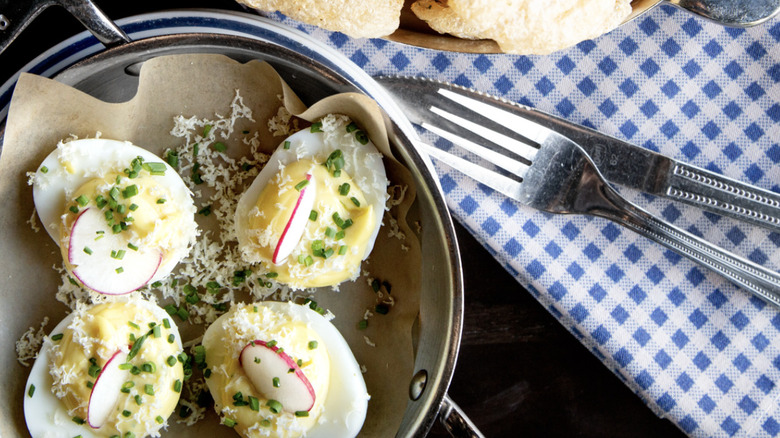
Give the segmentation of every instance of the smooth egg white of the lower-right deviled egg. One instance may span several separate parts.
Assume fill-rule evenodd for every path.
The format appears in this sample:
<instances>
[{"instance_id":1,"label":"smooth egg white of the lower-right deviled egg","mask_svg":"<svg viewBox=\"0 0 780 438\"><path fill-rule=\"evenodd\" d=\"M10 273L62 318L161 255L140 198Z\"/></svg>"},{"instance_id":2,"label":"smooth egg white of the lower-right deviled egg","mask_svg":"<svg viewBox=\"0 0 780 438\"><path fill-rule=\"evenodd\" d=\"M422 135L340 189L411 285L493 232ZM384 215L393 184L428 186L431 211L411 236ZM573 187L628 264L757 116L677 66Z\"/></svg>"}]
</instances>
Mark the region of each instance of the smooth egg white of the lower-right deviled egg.
<instances>
[{"instance_id":1,"label":"smooth egg white of the lower-right deviled egg","mask_svg":"<svg viewBox=\"0 0 780 438\"><path fill-rule=\"evenodd\" d=\"M349 344L324 316L306 305L292 302L265 301L261 304L272 311L304 322L322 338L330 358L330 382L322 404L319 420L305 433L307 438L354 437L365 422L370 396ZM217 327L217 319L211 327ZM209 328L211 328L209 327ZM204 341L213 334L206 330ZM213 364L212 364L213 365ZM207 380L211 390L212 380Z\"/></svg>"}]
</instances>

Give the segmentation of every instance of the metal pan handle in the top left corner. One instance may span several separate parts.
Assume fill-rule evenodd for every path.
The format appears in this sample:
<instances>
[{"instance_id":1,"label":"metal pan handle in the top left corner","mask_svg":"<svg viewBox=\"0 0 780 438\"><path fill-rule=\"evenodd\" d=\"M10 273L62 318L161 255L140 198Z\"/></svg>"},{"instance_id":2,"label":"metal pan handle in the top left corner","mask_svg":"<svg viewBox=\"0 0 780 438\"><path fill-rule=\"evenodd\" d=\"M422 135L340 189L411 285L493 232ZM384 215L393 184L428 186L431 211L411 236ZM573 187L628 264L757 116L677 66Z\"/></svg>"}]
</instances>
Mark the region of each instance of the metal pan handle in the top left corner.
<instances>
[{"instance_id":1,"label":"metal pan handle in the top left corner","mask_svg":"<svg viewBox=\"0 0 780 438\"><path fill-rule=\"evenodd\" d=\"M52 5L65 8L106 47L130 42L127 34L93 0L0 0L0 53L38 14Z\"/></svg>"}]
</instances>

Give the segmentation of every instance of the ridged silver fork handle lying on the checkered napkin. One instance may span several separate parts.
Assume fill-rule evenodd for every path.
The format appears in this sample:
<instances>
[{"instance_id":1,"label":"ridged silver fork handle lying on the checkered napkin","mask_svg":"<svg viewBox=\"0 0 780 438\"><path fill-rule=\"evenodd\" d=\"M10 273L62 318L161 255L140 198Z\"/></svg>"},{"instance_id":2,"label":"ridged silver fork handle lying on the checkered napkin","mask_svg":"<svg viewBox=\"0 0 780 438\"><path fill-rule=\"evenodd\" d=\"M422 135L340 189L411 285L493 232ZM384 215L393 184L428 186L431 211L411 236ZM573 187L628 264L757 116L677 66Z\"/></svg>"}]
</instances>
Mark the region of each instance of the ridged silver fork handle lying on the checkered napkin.
<instances>
[{"instance_id":1,"label":"ridged silver fork handle lying on the checkered napkin","mask_svg":"<svg viewBox=\"0 0 780 438\"><path fill-rule=\"evenodd\" d=\"M668 224L605 185L603 195L612 206L602 206L592 214L619 223L635 232L698 262L756 296L780 306L780 274ZM614 208L610 208L614 207Z\"/></svg>"}]
</instances>

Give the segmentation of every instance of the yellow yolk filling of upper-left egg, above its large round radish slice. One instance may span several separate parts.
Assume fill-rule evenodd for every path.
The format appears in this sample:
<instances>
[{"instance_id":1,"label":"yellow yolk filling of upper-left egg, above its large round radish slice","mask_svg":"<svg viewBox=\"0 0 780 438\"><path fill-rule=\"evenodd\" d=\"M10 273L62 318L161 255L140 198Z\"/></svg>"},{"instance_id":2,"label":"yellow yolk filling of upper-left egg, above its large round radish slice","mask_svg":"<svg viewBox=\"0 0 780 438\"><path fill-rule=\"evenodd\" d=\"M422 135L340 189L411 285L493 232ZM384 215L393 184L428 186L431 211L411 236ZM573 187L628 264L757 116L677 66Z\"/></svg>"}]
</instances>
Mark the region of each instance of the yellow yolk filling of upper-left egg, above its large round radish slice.
<instances>
[{"instance_id":1,"label":"yellow yolk filling of upper-left egg, above its large round radish slice","mask_svg":"<svg viewBox=\"0 0 780 438\"><path fill-rule=\"evenodd\" d=\"M67 204L60 228L60 249L68 270L73 268L68 263L71 228L78 213L86 208L99 208L102 213L111 211L111 219L106 218L107 224L120 227L116 231L123 233L127 242L136 247L162 251L161 264L173 255L166 250L175 247L177 241L183 238L177 224L184 211L172 202L168 190L154 176L142 174L132 179L121 177L119 184L116 181L117 174L91 179L76 190L72 195L73 201Z\"/></svg>"}]
</instances>

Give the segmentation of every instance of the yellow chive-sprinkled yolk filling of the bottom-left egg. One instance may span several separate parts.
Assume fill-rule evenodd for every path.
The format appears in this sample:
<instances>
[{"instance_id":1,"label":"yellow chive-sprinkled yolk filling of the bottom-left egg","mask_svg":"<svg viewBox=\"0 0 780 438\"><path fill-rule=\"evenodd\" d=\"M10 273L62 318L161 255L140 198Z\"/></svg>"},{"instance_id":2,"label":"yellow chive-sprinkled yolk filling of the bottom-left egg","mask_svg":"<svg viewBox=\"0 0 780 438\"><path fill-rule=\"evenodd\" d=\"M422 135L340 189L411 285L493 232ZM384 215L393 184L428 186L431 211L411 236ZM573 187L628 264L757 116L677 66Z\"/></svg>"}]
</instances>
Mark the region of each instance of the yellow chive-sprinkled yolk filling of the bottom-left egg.
<instances>
[{"instance_id":1,"label":"yellow chive-sprinkled yolk filling of the bottom-left egg","mask_svg":"<svg viewBox=\"0 0 780 438\"><path fill-rule=\"evenodd\" d=\"M159 329L155 331L151 324ZM165 328L162 320L131 303L105 303L77 316L62 335L52 350L50 373L53 390L69 415L87 421L91 386L98 367L102 370L114 353L129 350L143 337L138 353L127 362L132 367L126 371L125 389L120 392L116 407L106 424L93 432L100 436L125 436L132 432L142 437L162 426L179 400L176 382L184 379L182 364L177 359L181 349L169 339L172 331Z\"/></svg>"}]
</instances>

